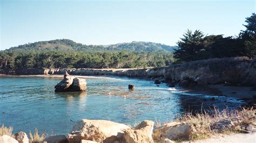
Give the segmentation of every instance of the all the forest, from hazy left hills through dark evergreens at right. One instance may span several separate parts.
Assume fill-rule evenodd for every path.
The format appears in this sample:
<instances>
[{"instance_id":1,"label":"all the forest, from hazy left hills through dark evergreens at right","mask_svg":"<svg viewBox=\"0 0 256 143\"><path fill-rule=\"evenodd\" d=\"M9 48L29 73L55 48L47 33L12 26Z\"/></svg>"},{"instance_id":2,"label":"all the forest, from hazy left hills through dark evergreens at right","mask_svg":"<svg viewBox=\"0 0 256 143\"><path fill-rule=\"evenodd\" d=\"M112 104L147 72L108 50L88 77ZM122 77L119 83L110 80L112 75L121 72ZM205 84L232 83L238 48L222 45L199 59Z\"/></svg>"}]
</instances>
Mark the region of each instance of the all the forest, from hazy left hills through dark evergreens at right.
<instances>
[{"instance_id":1,"label":"all the forest, from hazy left hills through dark evergreens at right","mask_svg":"<svg viewBox=\"0 0 256 143\"><path fill-rule=\"evenodd\" d=\"M237 37L187 30L176 46L153 42L83 45L69 39L39 41L0 51L4 70L21 68L142 68L209 58L256 55L256 16Z\"/></svg>"}]
</instances>

